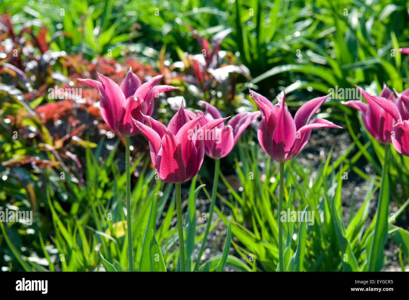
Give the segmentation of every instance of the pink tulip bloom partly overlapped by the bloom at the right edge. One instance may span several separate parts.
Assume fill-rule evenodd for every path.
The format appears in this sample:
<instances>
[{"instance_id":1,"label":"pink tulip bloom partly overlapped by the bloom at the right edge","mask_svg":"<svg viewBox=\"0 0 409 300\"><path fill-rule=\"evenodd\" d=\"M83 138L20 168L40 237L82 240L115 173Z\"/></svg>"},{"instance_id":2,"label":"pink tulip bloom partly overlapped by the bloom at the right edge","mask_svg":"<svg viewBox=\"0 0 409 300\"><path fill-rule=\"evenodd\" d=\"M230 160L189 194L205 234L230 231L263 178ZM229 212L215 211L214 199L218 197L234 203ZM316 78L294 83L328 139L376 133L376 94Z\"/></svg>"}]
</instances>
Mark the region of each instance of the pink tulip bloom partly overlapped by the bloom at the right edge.
<instances>
[{"instance_id":1,"label":"pink tulip bloom partly overlapped by the bloom at the right edge","mask_svg":"<svg viewBox=\"0 0 409 300\"><path fill-rule=\"evenodd\" d=\"M384 99L388 102L396 102L396 97L393 92L384 84L382 92L379 96L371 96L364 91L363 88L357 86L362 92L366 102L350 100L343 104L357 109L362 114L362 123L366 130L382 144L391 143L391 131L393 118L382 107L376 104L375 99Z\"/></svg>"}]
</instances>

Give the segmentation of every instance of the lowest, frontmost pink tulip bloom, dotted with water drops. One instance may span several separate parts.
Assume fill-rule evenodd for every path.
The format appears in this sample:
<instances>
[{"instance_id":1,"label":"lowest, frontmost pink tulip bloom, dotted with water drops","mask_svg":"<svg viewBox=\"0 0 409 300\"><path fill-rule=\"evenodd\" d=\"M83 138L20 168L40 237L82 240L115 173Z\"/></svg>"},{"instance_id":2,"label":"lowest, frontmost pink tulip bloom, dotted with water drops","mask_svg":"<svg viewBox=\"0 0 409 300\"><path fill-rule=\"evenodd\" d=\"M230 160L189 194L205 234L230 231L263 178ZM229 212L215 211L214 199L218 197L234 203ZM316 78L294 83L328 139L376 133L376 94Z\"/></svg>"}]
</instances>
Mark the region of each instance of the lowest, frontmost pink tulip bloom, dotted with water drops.
<instances>
[{"instance_id":1,"label":"lowest, frontmost pink tulip bloom, dotted with water drops","mask_svg":"<svg viewBox=\"0 0 409 300\"><path fill-rule=\"evenodd\" d=\"M183 183L196 176L202 166L205 147L203 140L196 139L193 133L205 115L191 120L185 113L182 103L166 127L161 122L140 114L144 122L139 120L134 122L149 140L152 163L159 177L167 183ZM211 120L205 127L211 130L227 119Z\"/></svg>"}]
</instances>

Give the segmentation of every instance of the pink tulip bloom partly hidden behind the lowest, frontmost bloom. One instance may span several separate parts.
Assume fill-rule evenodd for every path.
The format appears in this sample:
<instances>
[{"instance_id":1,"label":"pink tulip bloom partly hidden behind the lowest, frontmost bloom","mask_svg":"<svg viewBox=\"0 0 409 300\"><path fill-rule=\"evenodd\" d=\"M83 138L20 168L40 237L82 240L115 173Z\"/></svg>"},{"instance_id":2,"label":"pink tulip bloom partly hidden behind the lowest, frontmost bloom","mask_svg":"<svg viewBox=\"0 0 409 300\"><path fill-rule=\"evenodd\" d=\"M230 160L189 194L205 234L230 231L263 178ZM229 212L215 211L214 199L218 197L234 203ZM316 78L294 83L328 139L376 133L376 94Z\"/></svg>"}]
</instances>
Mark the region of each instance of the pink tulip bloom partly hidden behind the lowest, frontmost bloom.
<instances>
[{"instance_id":1,"label":"pink tulip bloom partly hidden behind the lowest, frontmost bloom","mask_svg":"<svg viewBox=\"0 0 409 300\"><path fill-rule=\"evenodd\" d=\"M203 138L205 154L211 158L222 158L229 154L236 145L240 134L243 133L251 122L261 115L259 111L253 113L238 113L229 120L227 125L220 123L209 131L206 124L216 119L220 120L222 115L220 115L220 112L213 105L204 101L200 103L205 106L205 113L199 110L197 110L196 113L192 111L185 112L191 119L204 114L196 134L199 138L200 136Z\"/></svg>"}]
</instances>

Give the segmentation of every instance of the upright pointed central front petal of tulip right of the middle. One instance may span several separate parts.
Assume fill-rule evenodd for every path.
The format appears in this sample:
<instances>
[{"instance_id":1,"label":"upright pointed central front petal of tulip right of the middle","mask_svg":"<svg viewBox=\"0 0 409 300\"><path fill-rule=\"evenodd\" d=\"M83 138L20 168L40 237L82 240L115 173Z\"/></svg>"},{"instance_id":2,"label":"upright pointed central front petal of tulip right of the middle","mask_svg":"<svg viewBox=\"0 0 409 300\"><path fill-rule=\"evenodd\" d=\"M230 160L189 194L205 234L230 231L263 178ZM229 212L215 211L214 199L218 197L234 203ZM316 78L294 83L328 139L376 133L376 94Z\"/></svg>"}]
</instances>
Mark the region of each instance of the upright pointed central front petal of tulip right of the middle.
<instances>
[{"instance_id":1,"label":"upright pointed central front petal of tulip right of the middle","mask_svg":"<svg viewBox=\"0 0 409 300\"><path fill-rule=\"evenodd\" d=\"M279 99L279 103L276 114L277 126L273 134L273 156L275 160L283 162L294 144L297 130L294 119L285 105L285 93Z\"/></svg>"}]
</instances>

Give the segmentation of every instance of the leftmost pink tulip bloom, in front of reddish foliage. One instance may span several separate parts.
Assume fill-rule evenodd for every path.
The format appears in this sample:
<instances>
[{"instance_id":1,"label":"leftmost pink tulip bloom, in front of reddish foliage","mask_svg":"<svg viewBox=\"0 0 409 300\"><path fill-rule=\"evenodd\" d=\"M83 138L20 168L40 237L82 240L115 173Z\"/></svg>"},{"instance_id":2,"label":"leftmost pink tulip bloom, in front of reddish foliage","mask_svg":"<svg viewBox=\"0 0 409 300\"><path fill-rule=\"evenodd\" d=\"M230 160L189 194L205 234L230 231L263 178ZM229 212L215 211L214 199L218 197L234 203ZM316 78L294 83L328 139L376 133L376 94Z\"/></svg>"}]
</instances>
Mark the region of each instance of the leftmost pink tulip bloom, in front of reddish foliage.
<instances>
[{"instance_id":1,"label":"leftmost pink tulip bloom, in front of reddish foliage","mask_svg":"<svg viewBox=\"0 0 409 300\"><path fill-rule=\"evenodd\" d=\"M112 79L99 73L98 77L99 81L93 79L78 80L88 83L99 91L99 104L103 120L111 129L126 136L139 132L137 126L132 122L132 117L140 118L139 112L144 115L152 115L153 98L162 92L177 89L173 86L155 86L162 79L163 74L141 84L131 69L120 86Z\"/></svg>"}]
</instances>

